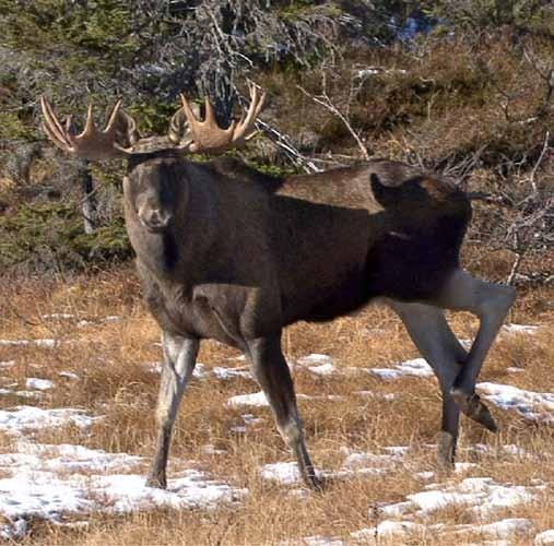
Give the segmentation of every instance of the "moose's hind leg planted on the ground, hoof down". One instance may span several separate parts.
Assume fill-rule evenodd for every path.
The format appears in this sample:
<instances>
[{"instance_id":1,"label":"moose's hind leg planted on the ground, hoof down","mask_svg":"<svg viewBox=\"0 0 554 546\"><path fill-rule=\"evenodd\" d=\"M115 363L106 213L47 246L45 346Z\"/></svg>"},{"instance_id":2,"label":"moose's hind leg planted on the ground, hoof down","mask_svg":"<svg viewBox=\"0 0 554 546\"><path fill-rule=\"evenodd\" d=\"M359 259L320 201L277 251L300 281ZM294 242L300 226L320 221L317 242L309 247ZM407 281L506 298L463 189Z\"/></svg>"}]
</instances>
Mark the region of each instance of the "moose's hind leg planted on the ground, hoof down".
<instances>
[{"instance_id":1,"label":"moose's hind leg planted on the ground, hoof down","mask_svg":"<svg viewBox=\"0 0 554 546\"><path fill-rule=\"evenodd\" d=\"M455 378L468 356L446 321L441 309L422 304L390 302L410 337L437 376L443 393L443 423L438 440L438 463L455 463L460 410L450 394Z\"/></svg>"}]
</instances>

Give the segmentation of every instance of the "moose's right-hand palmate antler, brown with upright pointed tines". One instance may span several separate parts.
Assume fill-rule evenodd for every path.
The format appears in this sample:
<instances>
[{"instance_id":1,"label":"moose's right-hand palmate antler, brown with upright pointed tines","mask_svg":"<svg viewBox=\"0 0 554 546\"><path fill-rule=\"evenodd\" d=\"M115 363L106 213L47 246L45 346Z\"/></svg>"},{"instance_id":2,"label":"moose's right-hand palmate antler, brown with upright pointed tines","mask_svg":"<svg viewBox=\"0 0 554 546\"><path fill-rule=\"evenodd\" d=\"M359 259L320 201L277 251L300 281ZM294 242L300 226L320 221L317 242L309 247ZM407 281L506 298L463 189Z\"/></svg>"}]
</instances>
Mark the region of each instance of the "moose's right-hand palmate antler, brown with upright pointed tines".
<instances>
[{"instance_id":1,"label":"moose's right-hand palmate antler, brown with upright pointed tines","mask_svg":"<svg viewBox=\"0 0 554 546\"><path fill-rule=\"evenodd\" d=\"M266 93L259 94L258 87L250 84L250 107L246 116L243 116L237 122L233 120L227 129L222 129L213 114L213 107L210 99L205 97L205 118L200 121L190 105L181 93L182 112L189 123L189 150L191 152L223 152L233 146L240 146L249 141L255 134L254 123L260 114Z\"/></svg>"}]
</instances>

